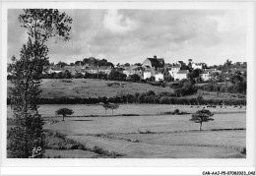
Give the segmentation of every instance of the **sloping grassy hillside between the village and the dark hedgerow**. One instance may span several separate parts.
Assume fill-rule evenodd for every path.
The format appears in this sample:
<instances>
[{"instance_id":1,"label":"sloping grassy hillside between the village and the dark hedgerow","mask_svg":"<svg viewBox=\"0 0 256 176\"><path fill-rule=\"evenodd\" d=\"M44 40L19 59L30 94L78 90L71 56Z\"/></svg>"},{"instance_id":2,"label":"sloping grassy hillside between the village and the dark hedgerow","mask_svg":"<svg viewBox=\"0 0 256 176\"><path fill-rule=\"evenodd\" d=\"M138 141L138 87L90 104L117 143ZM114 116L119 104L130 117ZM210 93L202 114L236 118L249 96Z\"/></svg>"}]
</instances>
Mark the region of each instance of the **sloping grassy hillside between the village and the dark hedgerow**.
<instances>
[{"instance_id":1,"label":"sloping grassy hillside between the village and the dark hedgerow","mask_svg":"<svg viewBox=\"0 0 256 176\"><path fill-rule=\"evenodd\" d=\"M9 81L7 86L8 88L11 87ZM134 94L135 92L142 93L149 90L154 90L156 93L173 91L172 88L160 88L149 84L103 81L94 79L74 79L70 83L67 83L63 80L42 80L41 89L42 97L48 98L98 96L112 97L115 95Z\"/></svg>"}]
</instances>

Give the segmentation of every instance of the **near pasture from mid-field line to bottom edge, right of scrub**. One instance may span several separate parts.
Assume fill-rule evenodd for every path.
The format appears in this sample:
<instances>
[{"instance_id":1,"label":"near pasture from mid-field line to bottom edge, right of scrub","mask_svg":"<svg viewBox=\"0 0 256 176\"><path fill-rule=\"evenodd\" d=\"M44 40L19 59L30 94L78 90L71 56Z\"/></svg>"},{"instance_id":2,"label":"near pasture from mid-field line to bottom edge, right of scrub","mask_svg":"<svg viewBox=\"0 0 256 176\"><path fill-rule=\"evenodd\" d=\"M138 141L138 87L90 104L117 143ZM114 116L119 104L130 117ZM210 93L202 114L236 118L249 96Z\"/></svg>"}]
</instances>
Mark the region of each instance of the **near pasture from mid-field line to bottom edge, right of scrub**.
<instances>
[{"instance_id":1,"label":"near pasture from mid-field line to bottom edge, right of scrub","mask_svg":"<svg viewBox=\"0 0 256 176\"><path fill-rule=\"evenodd\" d=\"M190 117L74 117L44 128L87 147L122 153L124 158L245 157L245 113L216 114L215 121L204 123L201 132Z\"/></svg>"}]
</instances>

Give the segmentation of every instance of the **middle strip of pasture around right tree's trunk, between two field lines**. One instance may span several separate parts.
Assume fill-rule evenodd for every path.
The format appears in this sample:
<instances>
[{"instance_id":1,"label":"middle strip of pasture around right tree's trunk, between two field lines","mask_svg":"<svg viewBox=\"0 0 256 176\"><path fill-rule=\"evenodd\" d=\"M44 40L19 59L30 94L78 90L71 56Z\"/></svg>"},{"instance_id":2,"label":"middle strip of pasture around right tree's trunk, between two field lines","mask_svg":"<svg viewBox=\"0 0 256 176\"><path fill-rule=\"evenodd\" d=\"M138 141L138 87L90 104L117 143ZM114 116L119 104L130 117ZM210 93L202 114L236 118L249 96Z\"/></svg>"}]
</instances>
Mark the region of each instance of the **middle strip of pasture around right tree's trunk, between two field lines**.
<instances>
[{"instance_id":1,"label":"middle strip of pasture around right tree's trunk, between two field lines","mask_svg":"<svg viewBox=\"0 0 256 176\"><path fill-rule=\"evenodd\" d=\"M74 117L45 125L45 129L79 135L138 133L140 130L151 132L198 130L199 124L189 121L190 118L191 115ZM203 130L246 128L245 114L216 114L213 118L215 121L203 123Z\"/></svg>"}]
</instances>

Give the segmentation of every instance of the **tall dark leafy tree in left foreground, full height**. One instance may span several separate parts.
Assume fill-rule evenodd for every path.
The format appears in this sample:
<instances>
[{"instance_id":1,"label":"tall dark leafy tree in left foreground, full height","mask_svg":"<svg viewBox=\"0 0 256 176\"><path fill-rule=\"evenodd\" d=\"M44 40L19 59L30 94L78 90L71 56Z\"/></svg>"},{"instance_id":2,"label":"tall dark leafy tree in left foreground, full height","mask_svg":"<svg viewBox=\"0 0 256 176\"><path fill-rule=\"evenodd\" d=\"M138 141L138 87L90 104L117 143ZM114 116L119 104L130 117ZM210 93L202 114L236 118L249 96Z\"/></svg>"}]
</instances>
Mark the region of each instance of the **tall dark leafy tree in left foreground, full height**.
<instances>
[{"instance_id":1,"label":"tall dark leafy tree in left foreground, full height","mask_svg":"<svg viewBox=\"0 0 256 176\"><path fill-rule=\"evenodd\" d=\"M11 107L16 127L11 129L11 157L32 157L35 148L42 157L44 152L43 119L38 113L42 66L47 63L50 37L69 40L72 19L53 9L25 9L20 15L22 27L27 29L28 42L21 49L21 58L12 58Z\"/></svg>"}]
</instances>

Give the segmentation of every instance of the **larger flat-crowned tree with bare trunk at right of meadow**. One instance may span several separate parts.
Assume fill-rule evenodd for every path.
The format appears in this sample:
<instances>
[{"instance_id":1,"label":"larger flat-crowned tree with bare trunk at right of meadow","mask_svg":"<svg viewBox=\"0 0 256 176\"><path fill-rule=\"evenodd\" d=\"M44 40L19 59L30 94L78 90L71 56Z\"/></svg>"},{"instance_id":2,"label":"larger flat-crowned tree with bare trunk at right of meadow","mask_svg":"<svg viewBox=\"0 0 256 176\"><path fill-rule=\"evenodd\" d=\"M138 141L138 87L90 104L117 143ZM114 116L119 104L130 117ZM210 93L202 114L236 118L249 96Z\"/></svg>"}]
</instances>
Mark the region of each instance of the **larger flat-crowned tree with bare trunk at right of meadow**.
<instances>
[{"instance_id":1,"label":"larger flat-crowned tree with bare trunk at right of meadow","mask_svg":"<svg viewBox=\"0 0 256 176\"><path fill-rule=\"evenodd\" d=\"M202 110L199 110L196 113L192 114L192 118L189 120L194 121L195 123L199 123L200 124L199 130L202 131L203 122L209 122L209 121L215 120L215 119L211 118L212 116L214 116L214 114L211 113L210 110L202 109Z\"/></svg>"}]
</instances>

